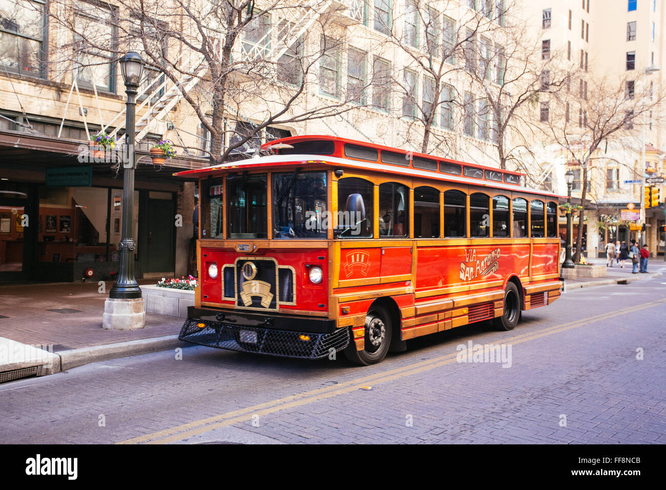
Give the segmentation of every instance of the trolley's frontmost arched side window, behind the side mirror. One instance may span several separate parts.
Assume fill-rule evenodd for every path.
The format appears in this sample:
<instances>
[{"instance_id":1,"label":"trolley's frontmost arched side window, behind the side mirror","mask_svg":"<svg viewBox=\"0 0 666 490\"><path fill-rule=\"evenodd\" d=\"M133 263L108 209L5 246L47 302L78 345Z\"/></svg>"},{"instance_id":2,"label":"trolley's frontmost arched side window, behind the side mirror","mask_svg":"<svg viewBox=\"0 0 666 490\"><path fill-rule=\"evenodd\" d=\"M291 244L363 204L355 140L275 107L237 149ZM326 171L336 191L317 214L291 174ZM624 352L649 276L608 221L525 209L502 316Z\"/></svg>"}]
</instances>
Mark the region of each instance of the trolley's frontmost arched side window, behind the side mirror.
<instances>
[{"instance_id":1,"label":"trolley's frontmost arched side window, behind the side mirror","mask_svg":"<svg viewBox=\"0 0 666 490\"><path fill-rule=\"evenodd\" d=\"M340 238L372 238L374 185L358 177L338 180L338 227Z\"/></svg>"}]
</instances>

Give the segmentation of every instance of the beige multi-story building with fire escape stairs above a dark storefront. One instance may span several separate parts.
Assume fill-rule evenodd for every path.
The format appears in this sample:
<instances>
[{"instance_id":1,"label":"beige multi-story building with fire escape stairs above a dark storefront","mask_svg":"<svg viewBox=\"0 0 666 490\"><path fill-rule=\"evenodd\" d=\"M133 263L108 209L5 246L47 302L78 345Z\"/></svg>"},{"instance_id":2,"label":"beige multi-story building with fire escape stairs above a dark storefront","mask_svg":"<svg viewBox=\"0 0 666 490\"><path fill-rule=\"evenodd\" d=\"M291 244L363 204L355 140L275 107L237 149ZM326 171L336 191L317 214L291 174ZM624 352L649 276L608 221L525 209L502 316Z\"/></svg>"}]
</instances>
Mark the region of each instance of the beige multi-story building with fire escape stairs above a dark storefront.
<instances>
[{"instance_id":1,"label":"beige multi-story building with fire escape stairs above a dark storefront","mask_svg":"<svg viewBox=\"0 0 666 490\"><path fill-rule=\"evenodd\" d=\"M501 40L494 33L505 22L504 3L324 0L310 17L287 19L301 36L296 49L278 48L284 15L268 11L238 38L234 60L254 53L278 57L278 67L295 66L334 39L335 49L302 73L306 83L297 105L345 110L265 127L238 152L276 137L326 133L496 164L496 127L484 92L468 75L478 69L484 83L501 83L506 67L496 59ZM147 57L145 39L143 45L127 39L139 29L132 8L122 0L0 0L0 280L108 279L117 269L122 179L113 161L87 159L92 154L86 146L97 131L125 133L117 59L123 49ZM311 21L313 11L328 16L325 22ZM182 53L175 36L160 36L161 25L175 23L174 12L164 10L159 19L155 14L153 31L141 27L172 65L192 54ZM202 20L214 22L192 19L178 25L179 34L196 35L193 27ZM433 70L438 63L440 71ZM201 117L210 116L206 96L215 83L203 65L192 66L180 79L166 68L147 67L139 89L134 235L143 273L187 270L194 189L171 173L208 165L212 138ZM278 72L276 86L298 85L289 73ZM258 76L246 75L239 84ZM200 97L198 105L182 97L178 84ZM222 151L262 123L265 107L247 107L224 109ZM174 142L178 157L164 168L143 165L161 139ZM178 215L183 226L174 226Z\"/></svg>"}]
</instances>

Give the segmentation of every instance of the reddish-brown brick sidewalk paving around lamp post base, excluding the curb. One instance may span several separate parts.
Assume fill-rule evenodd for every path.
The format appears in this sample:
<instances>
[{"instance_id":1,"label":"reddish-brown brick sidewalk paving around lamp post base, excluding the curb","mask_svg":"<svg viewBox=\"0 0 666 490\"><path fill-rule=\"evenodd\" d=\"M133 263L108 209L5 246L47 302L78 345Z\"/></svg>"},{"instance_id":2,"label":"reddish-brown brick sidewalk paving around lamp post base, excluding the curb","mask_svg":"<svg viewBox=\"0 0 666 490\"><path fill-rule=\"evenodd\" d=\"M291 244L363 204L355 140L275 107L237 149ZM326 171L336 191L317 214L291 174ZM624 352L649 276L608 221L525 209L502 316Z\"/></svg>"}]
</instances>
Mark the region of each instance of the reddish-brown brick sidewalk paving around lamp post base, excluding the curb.
<instances>
[{"instance_id":1,"label":"reddish-brown brick sidewalk paving around lamp post base, excluding the curb","mask_svg":"<svg viewBox=\"0 0 666 490\"><path fill-rule=\"evenodd\" d=\"M155 281L139 281L155 284ZM27 344L63 345L73 349L114 342L175 335L182 319L148 313L144 329L122 331L102 328L104 301L97 282L0 286L0 337ZM57 313L51 309L75 309Z\"/></svg>"}]
</instances>

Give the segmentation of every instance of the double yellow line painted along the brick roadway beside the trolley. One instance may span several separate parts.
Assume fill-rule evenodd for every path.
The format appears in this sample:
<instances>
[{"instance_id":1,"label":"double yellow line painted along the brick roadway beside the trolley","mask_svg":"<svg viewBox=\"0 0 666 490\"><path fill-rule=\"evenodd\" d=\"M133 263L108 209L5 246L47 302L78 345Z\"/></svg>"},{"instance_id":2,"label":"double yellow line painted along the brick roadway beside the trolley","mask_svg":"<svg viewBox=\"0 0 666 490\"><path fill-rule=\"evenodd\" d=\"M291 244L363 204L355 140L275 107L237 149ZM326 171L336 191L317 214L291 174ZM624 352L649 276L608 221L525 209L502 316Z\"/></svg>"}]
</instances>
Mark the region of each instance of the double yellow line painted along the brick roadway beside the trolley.
<instances>
[{"instance_id":1,"label":"double yellow line painted along the brick roadway beside the trolley","mask_svg":"<svg viewBox=\"0 0 666 490\"><path fill-rule=\"evenodd\" d=\"M634 311L647 309L663 304L665 301L666 299L651 301L649 303L643 303L643 305L635 305L625 309L601 313L600 315L595 315L593 317L587 317L585 319L563 323L555 327L548 327L537 332L523 333L521 335L516 335L515 337L502 339L502 343L519 344L527 342L533 339L538 339L540 337L545 337L547 335L552 335L553 333L559 333L561 331L573 329L576 327L582 327L595 321L610 319L619 315L625 315L626 313L633 313ZM191 437L192 435L197 435L213 429L218 429L220 427L226 427L227 425L232 425L234 423L246 421L248 419L247 415L250 413L252 413L252 415L258 416L268 415L270 413L275 413L284 409L298 407L300 405L306 405L314 401L320 401L323 399L342 395L344 393L356 391L363 383L374 383L375 385L378 383L386 383L387 381L393 381L394 379L400 379L402 377L428 371L436 367L441 367L456 361L458 353L459 351L456 351L455 353L450 353L436 357L434 359L428 359L426 361L420 361L418 363L412 363L410 365L390 369L389 371L384 371L382 373L375 373L373 375L345 381L344 383L339 383L338 385L313 389L303 393L298 393L296 395L290 395L288 397L266 401L264 403L258 403L257 405L252 405L251 407L245 407L243 409L215 415L214 417L208 417L206 419L200 419L198 421L177 425L175 427L170 427L155 433L133 437L132 439L127 439L127 441L121 441L118 444L168 443L172 441L179 441L181 439L185 439L186 437Z\"/></svg>"}]
</instances>

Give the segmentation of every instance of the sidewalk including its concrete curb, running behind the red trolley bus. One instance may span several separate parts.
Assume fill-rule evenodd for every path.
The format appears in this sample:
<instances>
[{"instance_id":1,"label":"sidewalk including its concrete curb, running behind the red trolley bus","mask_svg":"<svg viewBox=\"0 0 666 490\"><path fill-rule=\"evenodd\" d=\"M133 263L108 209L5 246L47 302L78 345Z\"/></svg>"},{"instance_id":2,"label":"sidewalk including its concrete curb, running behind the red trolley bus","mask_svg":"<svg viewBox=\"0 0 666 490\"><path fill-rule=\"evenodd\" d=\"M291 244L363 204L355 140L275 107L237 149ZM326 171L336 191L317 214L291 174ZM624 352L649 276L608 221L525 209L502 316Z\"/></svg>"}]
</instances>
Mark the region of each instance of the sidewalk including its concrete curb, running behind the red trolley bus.
<instances>
[{"instance_id":1,"label":"sidewalk including its concrete curb, running behind the red trolley bus","mask_svg":"<svg viewBox=\"0 0 666 490\"><path fill-rule=\"evenodd\" d=\"M647 274L632 274L627 265L624 269L609 267L607 277L567 280L564 290L627 284L659 277L659 269L666 270L663 262L655 260L649 263ZM184 319L166 315L146 313L143 329L103 329L104 302L112 285L106 283L105 293L98 292L97 283L0 285L0 383L190 345L178 341ZM9 359L8 353L13 353Z\"/></svg>"}]
</instances>

